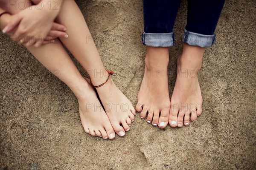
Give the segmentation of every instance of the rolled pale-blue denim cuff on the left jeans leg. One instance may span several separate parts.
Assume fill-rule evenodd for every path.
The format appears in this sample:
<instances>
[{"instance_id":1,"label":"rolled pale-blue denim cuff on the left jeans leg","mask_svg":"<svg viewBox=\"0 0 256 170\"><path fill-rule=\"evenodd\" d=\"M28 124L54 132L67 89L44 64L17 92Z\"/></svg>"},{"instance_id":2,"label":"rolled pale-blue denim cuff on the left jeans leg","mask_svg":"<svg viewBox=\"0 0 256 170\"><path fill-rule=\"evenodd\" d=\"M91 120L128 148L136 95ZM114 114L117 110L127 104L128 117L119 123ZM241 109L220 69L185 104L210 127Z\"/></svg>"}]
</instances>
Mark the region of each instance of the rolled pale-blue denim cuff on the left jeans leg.
<instances>
[{"instance_id":1,"label":"rolled pale-blue denim cuff on the left jeans leg","mask_svg":"<svg viewBox=\"0 0 256 170\"><path fill-rule=\"evenodd\" d=\"M142 42L151 47L171 47L174 45L174 33L142 33Z\"/></svg>"}]
</instances>

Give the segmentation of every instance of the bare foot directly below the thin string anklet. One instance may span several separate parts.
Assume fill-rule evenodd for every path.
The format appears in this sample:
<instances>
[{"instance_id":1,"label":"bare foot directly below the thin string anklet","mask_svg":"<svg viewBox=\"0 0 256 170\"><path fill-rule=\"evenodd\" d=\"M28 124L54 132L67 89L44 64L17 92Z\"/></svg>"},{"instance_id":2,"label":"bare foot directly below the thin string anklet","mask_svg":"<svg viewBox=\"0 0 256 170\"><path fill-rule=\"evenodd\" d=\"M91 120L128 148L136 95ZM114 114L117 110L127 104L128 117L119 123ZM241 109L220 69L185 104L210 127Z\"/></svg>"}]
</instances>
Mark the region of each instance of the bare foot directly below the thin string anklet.
<instances>
[{"instance_id":1,"label":"bare foot directly below the thin string anklet","mask_svg":"<svg viewBox=\"0 0 256 170\"><path fill-rule=\"evenodd\" d=\"M131 101L116 87L112 79L96 88L111 125L119 136L125 136L134 121L135 109Z\"/></svg>"}]
</instances>

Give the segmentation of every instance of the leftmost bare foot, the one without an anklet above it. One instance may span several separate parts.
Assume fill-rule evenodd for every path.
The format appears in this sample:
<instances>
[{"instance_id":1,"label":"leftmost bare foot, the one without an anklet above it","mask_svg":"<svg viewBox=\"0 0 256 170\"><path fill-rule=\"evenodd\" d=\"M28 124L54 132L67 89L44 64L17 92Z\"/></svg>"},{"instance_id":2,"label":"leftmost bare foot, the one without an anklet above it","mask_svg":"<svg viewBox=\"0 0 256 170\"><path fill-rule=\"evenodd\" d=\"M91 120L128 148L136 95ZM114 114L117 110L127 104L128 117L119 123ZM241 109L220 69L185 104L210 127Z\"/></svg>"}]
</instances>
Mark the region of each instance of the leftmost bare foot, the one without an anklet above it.
<instances>
[{"instance_id":1,"label":"leftmost bare foot, the one without an anklet above it","mask_svg":"<svg viewBox=\"0 0 256 170\"><path fill-rule=\"evenodd\" d=\"M82 83L84 83L84 91L77 96L77 99L81 123L85 132L103 139L114 139L113 127L96 96L94 88L90 85L90 80L86 79Z\"/></svg>"}]
</instances>

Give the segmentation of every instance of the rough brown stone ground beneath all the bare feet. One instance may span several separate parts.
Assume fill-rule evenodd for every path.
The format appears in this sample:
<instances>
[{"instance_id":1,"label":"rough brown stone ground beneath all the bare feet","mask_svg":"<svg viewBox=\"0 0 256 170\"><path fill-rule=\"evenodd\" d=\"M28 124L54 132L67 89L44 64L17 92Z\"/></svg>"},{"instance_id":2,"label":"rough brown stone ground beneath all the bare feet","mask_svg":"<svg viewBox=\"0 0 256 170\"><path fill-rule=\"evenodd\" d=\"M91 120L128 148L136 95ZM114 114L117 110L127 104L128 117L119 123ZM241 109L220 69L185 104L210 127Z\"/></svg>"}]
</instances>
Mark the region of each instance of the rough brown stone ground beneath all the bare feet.
<instances>
[{"instance_id":1,"label":"rough brown stone ground beneath all the bare feet","mask_svg":"<svg viewBox=\"0 0 256 170\"><path fill-rule=\"evenodd\" d=\"M136 105L145 57L141 0L76 2L104 65L118 73L114 82ZM182 1L170 49L170 95L186 9ZM127 135L113 141L84 133L70 89L0 34L0 170L254 169L255 13L253 0L225 4L199 74L204 113L195 123L161 130L137 115Z\"/></svg>"}]
</instances>

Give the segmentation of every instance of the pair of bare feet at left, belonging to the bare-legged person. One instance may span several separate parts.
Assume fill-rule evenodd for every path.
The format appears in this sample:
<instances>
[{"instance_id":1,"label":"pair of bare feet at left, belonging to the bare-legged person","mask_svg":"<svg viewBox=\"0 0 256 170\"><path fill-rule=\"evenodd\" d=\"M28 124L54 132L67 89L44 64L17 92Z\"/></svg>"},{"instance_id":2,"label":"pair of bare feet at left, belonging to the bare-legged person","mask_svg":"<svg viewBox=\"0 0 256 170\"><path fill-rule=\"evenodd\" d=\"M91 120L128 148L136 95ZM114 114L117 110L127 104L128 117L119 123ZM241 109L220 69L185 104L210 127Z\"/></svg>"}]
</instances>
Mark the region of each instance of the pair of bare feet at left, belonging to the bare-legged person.
<instances>
[{"instance_id":1,"label":"pair of bare feet at left, belonging to the bare-legged person","mask_svg":"<svg viewBox=\"0 0 256 170\"><path fill-rule=\"evenodd\" d=\"M112 79L96 89L101 102L89 79L83 79L80 85L84 90L77 95L77 99L84 131L103 139L114 139L115 133L125 136L134 121L136 111Z\"/></svg>"}]
</instances>

